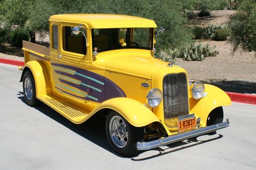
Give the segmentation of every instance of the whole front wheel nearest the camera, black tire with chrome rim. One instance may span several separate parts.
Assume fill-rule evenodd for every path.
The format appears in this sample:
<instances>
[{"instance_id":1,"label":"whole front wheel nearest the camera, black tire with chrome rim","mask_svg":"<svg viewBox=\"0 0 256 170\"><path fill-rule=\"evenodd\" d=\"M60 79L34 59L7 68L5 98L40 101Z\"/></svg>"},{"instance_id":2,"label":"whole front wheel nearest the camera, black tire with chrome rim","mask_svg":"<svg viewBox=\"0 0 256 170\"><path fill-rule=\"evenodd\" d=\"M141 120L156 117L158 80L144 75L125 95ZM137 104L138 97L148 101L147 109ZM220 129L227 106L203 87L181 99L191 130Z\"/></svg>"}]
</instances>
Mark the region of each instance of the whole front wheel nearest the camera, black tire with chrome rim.
<instances>
[{"instance_id":1,"label":"whole front wheel nearest the camera, black tire with chrome rim","mask_svg":"<svg viewBox=\"0 0 256 170\"><path fill-rule=\"evenodd\" d=\"M135 155L138 152L137 141L143 139L143 127L130 125L123 116L112 111L106 117L105 130L114 151L125 156Z\"/></svg>"}]
</instances>

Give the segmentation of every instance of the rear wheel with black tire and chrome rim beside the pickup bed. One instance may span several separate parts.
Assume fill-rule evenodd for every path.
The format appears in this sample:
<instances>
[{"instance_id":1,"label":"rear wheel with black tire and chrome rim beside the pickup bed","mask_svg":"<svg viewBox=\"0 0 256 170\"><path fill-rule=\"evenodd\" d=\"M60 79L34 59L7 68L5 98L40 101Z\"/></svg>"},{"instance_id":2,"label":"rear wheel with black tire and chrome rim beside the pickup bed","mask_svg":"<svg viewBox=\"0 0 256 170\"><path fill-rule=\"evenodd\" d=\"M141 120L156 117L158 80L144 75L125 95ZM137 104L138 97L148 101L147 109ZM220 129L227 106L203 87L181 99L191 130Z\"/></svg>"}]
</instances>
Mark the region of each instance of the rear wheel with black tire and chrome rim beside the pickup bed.
<instances>
[{"instance_id":1,"label":"rear wheel with black tire and chrome rim beside the pickup bed","mask_svg":"<svg viewBox=\"0 0 256 170\"><path fill-rule=\"evenodd\" d=\"M23 76L23 92L25 101L29 106L36 106L39 100L36 99L35 94L35 81L30 71L26 71Z\"/></svg>"}]
</instances>

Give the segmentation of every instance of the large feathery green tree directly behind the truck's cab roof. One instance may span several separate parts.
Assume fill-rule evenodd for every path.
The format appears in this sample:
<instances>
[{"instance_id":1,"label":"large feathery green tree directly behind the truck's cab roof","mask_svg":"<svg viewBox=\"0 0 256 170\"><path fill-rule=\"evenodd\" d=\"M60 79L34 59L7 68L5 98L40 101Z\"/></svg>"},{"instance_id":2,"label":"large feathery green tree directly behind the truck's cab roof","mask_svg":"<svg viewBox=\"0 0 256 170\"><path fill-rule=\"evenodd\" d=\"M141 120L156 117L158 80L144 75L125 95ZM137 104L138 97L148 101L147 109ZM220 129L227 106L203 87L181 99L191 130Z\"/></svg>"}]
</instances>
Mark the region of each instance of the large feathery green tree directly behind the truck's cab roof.
<instances>
[{"instance_id":1,"label":"large feathery green tree directly behind the truck's cab roof","mask_svg":"<svg viewBox=\"0 0 256 170\"><path fill-rule=\"evenodd\" d=\"M61 13L110 13L124 14L154 19L158 26L163 26L166 31L157 39L157 48L181 47L191 42L193 35L183 27L186 17L181 13L182 3L174 0L156 1L60 1L60 0L35 0L30 13L29 27L38 32L49 30L48 19L51 15ZM160 45L161 44L161 45Z\"/></svg>"}]
</instances>

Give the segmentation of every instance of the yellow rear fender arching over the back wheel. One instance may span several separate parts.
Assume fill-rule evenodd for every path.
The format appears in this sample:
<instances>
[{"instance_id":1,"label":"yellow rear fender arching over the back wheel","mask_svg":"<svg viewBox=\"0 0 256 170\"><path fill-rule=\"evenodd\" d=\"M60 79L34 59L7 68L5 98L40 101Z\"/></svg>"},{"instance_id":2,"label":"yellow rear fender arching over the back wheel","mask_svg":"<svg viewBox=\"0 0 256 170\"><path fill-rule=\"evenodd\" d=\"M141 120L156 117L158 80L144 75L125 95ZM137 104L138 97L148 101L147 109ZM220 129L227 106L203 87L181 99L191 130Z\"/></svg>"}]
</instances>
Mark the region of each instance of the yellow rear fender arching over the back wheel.
<instances>
[{"instance_id":1,"label":"yellow rear fender arching over the back wheel","mask_svg":"<svg viewBox=\"0 0 256 170\"><path fill-rule=\"evenodd\" d=\"M51 84L45 65L35 60L27 62L24 65L20 81L22 81L24 73L28 70L32 72L35 81L36 98L40 95L50 94Z\"/></svg>"}]
</instances>

